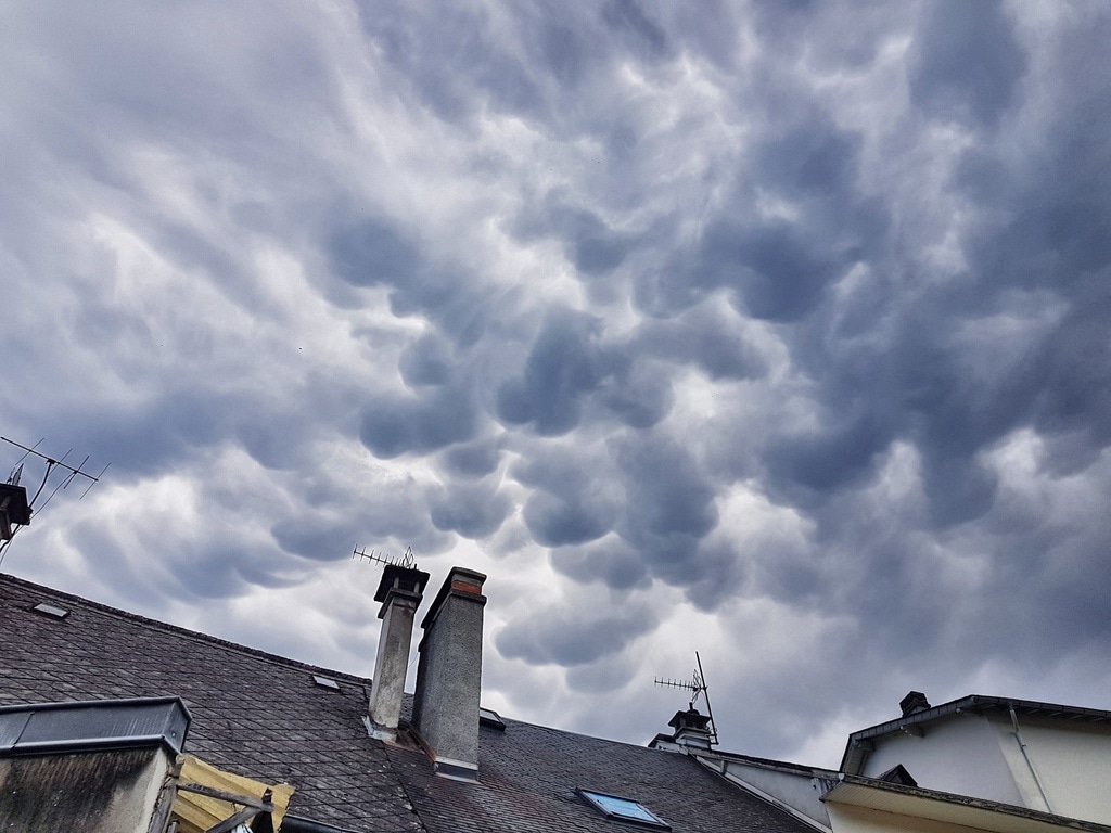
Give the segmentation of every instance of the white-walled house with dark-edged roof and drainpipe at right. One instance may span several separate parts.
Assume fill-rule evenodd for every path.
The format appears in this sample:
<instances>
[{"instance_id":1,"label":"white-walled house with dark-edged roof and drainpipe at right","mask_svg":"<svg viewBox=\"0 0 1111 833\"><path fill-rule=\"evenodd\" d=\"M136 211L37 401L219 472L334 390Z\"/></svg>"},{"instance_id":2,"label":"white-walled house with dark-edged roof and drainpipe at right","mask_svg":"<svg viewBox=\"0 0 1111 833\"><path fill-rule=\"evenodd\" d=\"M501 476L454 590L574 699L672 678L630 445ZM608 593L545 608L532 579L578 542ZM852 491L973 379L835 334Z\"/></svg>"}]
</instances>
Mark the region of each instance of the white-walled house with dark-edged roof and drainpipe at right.
<instances>
[{"instance_id":1,"label":"white-walled house with dark-edged roof and drainpipe at right","mask_svg":"<svg viewBox=\"0 0 1111 833\"><path fill-rule=\"evenodd\" d=\"M1111 712L983 695L933 706L917 691L900 707L849 736L842 783L824 796L831 815L870 809L888 829L895 815L985 830L1111 824Z\"/></svg>"}]
</instances>

